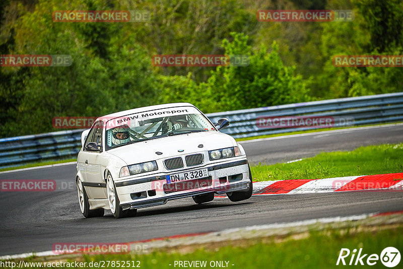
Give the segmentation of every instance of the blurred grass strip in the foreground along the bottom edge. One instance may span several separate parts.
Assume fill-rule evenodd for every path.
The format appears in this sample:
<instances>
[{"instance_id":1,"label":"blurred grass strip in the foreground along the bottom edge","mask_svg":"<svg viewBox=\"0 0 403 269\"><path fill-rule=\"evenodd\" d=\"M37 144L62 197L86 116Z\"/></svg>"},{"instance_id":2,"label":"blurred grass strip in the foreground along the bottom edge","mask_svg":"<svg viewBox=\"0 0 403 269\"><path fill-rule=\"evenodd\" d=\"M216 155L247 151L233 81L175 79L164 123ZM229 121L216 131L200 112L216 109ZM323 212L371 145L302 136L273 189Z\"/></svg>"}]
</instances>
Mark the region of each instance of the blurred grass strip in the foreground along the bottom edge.
<instances>
[{"instance_id":1,"label":"blurred grass strip in the foreground along the bottom edge","mask_svg":"<svg viewBox=\"0 0 403 269\"><path fill-rule=\"evenodd\" d=\"M105 267L116 266L116 261L129 261L143 268L175 268L175 261L206 261L206 268L211 268L210 262L228 262L230 268L340 268L336 265L342 248L362 248L362 255L380 256L382 250L393 246L403 249L403 225L397 224L387 228L361 229L352 227L343 230L311 231L307 234L272 236L249 241L232 241L226 246L199 248L190 253L177 251L154 251L145 255L114 254L114 255L83 255L74 260L86 262L85 268L93 268L94 262ZM345 258L350 262L350 254ZM67 259L65 261L73 261ZM111 265L114 261L115 266ZM355 260L354 260L355 261ZM44 261L45 262L45 261ZM93 266L88 266L92 262ZM401 262L400 262L401 263ZM353 263L354 264L354 263ZM366 264L365 264L366 265ZM366 265L368 266L368 265ZM35 266L33 266L35 267ZM380 260L372 268L385 268ZM35 267L37 268L37 267Z\"/></svg>"}]
</instances>

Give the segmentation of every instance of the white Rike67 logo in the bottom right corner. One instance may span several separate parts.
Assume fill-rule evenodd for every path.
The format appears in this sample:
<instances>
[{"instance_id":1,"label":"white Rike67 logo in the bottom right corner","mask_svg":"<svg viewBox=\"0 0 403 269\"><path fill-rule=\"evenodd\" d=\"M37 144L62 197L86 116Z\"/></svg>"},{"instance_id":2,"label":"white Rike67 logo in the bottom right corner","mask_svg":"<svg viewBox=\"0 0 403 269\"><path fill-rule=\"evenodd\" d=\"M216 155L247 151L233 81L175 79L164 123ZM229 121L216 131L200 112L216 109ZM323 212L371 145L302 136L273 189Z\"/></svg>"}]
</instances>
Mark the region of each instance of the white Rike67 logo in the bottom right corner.
<instances>
[{"instance_id":1,"label":"white Rike67 logo in the bottom right corner","mask_svg":"<svg viewBox=\"0 0 403 269\"><path fill-rule=\"evenodd\" d=\"M362 248L358 250L358 253L357 249L350 251L348 248L342 248L336 265L375 265L379 260L386 267L395 267L400 262L400 252L394 247L385 247L380 255L365 254Z\"/></svg>"}]
</instances>

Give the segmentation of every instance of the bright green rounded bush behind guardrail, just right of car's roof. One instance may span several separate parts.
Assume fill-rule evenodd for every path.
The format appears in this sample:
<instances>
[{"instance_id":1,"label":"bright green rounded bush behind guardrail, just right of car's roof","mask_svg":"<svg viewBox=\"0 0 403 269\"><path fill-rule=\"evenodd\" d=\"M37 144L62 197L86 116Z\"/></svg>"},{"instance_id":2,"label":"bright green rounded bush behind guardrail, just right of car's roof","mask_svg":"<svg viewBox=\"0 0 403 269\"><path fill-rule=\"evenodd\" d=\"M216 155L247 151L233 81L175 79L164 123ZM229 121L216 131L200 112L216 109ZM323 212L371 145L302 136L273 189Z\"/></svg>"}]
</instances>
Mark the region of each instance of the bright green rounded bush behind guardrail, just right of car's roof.
<instances>
[{"instance_id":1,"label":"bright green rounded bush behind guardrail, just right of car's roof","mask_svg":"<svg viewBox=\"0 0 403 269\"><path fill-rule=\"evenodd\" d=\"M304 102L307 96L306 82L302 76L294 76L294 66L284 66L278 54L278 45L272 51L261 46L251 53L248 37L232 33L233 42L223 41L227 55L245 54L250 64L244 66L219 66L211 73L209 81L200 86L217 100L213 110L236 110L270 105ZM222 108L221 108L222 110Z\"/></svg>"}]
</instances>

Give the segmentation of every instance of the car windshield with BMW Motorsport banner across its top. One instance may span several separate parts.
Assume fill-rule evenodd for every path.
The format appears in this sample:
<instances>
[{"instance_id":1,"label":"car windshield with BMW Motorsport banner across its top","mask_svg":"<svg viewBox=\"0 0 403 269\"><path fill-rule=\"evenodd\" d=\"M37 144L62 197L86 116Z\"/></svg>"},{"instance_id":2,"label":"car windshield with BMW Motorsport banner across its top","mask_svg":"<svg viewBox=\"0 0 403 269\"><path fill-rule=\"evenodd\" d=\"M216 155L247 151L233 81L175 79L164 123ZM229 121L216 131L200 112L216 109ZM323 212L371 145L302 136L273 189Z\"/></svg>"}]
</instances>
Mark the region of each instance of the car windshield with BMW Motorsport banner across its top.
<instances>
[{"instance_id":1,"label":"car windshield with BMW Motorsport banner across its top","mask_svg":"<svg viewBox=\"0 0 403 269\"><path fill-rule=\"evenodd\" d=\"M106 121L106 150L146 140L216 128L194 107L129 114Z\"/></svg>"}]
</instances>

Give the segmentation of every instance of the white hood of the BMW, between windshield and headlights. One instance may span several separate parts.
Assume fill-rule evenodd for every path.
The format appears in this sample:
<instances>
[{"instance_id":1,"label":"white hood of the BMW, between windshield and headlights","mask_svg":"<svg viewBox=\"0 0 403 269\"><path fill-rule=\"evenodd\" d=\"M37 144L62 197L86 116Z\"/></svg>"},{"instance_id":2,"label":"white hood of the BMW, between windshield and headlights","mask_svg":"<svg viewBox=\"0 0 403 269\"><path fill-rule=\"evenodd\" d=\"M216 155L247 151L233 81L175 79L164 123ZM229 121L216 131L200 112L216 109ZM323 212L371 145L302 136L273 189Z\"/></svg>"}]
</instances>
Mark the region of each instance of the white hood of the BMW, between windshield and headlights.
<instances>
[{"instance_id":1,"label":"white hood of the BMW, between windshield and headlights","mask_svg":"<svg viewBox=\"0 0 403 269\"><path fill-rule=\"evenodd\" d=\"M203 148L198 148L200 144L203 145ZM236 145L235 140L228 134L208 131L177 134L172 137L138 142L109 150L108 153L119 157L127 165L130 165L182 154L234 147ZM179 152L179 150L183 150L183 152ZM156 152L162 152L162 154L157 155Z\"/></svg>"}]
</instances>

